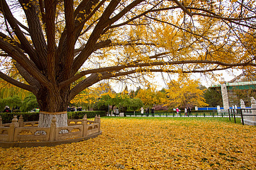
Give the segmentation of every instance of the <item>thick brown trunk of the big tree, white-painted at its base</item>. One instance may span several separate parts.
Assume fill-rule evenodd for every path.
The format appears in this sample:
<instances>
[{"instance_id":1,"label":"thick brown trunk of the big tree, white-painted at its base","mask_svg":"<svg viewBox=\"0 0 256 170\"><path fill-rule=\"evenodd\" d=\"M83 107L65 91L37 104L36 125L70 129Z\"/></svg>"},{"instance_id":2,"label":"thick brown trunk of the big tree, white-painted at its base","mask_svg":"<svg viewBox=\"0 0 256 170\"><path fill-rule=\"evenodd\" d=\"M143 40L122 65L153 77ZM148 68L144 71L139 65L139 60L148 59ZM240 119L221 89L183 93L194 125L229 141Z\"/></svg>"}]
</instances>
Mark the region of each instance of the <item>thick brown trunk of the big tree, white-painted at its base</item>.
<instances>
[{"instance_id":1,"label":"thick brown trunk of the big tree, white-painted at its base","mask_svg":"<svg viewBox=\"0 0 256 170\"><path fill-rule=\"evenodd\" d=\"M56 117L57 127L67 126L67 105L70 88L51 89L42 87L37 92L37 101L39 103L39 127L50 127L51 119Z\"/></svg>"}]
</instances>

